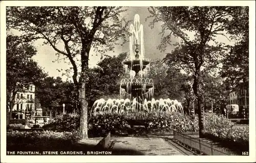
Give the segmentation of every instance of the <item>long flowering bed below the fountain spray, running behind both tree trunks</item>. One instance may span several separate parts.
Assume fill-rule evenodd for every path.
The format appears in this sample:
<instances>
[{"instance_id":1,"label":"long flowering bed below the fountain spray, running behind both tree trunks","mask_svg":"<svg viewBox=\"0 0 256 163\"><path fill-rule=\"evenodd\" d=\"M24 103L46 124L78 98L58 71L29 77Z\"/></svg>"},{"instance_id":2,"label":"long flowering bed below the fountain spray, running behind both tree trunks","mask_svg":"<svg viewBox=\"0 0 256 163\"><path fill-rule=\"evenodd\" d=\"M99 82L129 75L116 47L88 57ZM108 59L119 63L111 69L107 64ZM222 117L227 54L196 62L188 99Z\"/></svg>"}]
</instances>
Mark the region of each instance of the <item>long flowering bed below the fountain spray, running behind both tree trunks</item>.
<instances>
[{"instance_id":1,"label":"long flowering bed below the fountain spray, running behind both tree trunks","mask_svg":"<svg viewBox=\"0 0 256 163\"><path fill-rule=\"evenodd\" d=\"M249 129L232 129L231 121L217 114L205 113L206 136L215 140L232 143L234 146L246 147L249 140ZM103 136L111 134L131 133L130 121L138 121L144 124L148 131L166 132L176 130L178 132L199 131L198 116L189 116L175 112L131 112L131 113L104 113L94 115L89 119L89 136ZM55 122L43 128L56 131L77 131L79 127L79 115L58 115Z\"/></svg>"}]
</instances>

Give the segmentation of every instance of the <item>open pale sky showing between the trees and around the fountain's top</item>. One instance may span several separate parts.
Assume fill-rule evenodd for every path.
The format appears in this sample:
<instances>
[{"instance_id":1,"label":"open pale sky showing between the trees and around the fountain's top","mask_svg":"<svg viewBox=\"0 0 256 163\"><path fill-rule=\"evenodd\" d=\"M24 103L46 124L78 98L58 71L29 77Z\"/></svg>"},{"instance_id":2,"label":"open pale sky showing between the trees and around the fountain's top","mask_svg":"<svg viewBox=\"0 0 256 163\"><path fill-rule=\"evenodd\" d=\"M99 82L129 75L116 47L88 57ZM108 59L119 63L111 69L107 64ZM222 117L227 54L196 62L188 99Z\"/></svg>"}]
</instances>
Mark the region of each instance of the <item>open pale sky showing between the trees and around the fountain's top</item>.
<instances>
[{"instance_id":1,"label":"open pale sky showing between the trees and around the fountain's top","mask_svg":"<svg viewBox=\"0 0 256 163\"><path fill-rule=\"evenodd\" d=\"M139 14L140 23L143 25L144 30L144 47L145 47L145 57L151 60L153 59L163 59L166 53L172 51L175 47L168 46L165 52L160 52L157 50L157 46L160 44L161 35L159 35L161 31L161 24L156 24L154 29L151 29L148 25L151 19L145 21L145 18L150 15L147 8L148 7L126 7L127 11L123 13L122 16L125 16L127 20L134 21L135 14ZM130 25L129 25L130 27ZM177 38L174 38L173 41L177 41ZM34 56L34 60L38 62L39 66L44 68L44 71L48 73L49 76L57 77L60 76L63 80L67 79L67 76L61 76L62 72L59 72L57 69L67 69L70 66L68 63L60 60L59 62L54 60L57 59L55 55L55 50L49 45L42 45L43 40L38 40L35 42L35 46L37 48L37 54ZM60 49L63 49L60 47ZM113 52L109 52L108 55L114 56L118 55L122 52L129 52L129 43L125 43L123 46L116 46ZM92 53L91 53L92 52ZM90 52L89 57L89 66L93 67L100 60L100 55L96 56L93 51ZM62 57L62 56L61 56ZM60 57L60 58L61 58ZM62 57L63 58L63 57ZM67 60L68 61L68 60Z\"/></svg>"}]
</instances>

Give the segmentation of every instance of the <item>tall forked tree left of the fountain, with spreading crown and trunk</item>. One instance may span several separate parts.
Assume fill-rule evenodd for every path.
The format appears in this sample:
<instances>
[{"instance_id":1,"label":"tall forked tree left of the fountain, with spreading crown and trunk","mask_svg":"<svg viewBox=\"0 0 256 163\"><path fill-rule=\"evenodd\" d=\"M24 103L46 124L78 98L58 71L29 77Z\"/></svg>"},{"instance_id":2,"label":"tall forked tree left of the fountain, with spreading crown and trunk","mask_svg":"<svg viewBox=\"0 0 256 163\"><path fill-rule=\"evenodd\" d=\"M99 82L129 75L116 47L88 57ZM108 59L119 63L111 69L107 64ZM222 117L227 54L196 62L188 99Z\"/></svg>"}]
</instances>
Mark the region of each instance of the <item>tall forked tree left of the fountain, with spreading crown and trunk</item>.
<instances>
[{"instance_id":1,"label":"tall forked tree left of the fountain, with spreading crown and trunk","mask_svg":"<svg viewBox=\"0 0 256 163\"><path fill-rule=\"evenodd\" d=\"M80 138L88 138L86 79L91 50L113 50L125 39L122 7L8 7L7 26L24 32L24 40L42 38L69 59L80 106ZM61 48L59 48L61 47ZM79 71L80 70L80 71Z\"/></svg>"}]
</instances>

